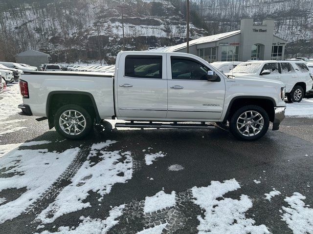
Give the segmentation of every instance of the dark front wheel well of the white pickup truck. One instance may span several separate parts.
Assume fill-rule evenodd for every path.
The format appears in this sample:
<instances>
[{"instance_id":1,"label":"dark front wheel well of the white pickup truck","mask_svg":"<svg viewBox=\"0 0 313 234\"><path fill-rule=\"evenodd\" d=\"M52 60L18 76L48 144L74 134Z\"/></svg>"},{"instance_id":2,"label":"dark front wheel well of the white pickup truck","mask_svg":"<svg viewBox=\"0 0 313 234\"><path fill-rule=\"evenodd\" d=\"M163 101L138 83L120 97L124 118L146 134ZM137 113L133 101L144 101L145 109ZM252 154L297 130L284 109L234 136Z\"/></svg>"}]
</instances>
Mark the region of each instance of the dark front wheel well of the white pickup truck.
<instances>
[{"instance_id":1,"label":"dark front wheel well of the white pickup truck","mask_svg":"<svg viewBox=\"0 0 313 234\"><path fill-rule=\"evenodd\" d=\"M230 105L231 107L226 118L228 121L239 108L246 105L256 105L262 107L268 113L269 120L271 122L274 121L275 110L272 100L266 98L239 98L235 99Z\"/></svg>"}]
</instances>

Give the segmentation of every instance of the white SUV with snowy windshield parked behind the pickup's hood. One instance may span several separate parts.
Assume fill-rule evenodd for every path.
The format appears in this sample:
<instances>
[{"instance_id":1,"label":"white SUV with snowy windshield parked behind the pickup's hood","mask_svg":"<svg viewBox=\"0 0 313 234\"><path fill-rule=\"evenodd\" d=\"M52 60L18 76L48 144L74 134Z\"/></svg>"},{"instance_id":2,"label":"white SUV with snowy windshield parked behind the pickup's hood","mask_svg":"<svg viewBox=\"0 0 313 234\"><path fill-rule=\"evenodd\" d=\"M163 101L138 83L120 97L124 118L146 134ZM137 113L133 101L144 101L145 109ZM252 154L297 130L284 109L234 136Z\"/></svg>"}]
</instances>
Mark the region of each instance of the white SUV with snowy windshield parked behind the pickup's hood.
<instances>
[{"instance_id":1,"label":"white SUV with snowy windshield parked behind the pickup's hood","mask_svg":"<svg viewBox=\"0 0 313 234\"><path fill-rule=\"evenodd\" d=\"M226 75L282 81L286 85L286 96L290 102L300 102L313 85L309 68L305 62L299 60L243 62Z\"/></svg>"}]
</instances>

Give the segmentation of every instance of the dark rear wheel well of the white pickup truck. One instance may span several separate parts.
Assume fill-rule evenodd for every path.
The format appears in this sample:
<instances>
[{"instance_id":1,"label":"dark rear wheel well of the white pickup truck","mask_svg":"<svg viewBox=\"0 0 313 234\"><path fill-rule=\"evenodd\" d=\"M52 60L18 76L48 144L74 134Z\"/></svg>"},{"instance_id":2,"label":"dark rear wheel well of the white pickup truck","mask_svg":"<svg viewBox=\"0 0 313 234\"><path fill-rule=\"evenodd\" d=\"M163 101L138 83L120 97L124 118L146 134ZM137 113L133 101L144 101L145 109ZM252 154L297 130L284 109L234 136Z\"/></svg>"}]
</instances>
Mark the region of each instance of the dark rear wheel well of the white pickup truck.
<instances>
[{"instance_id":1,"label":"dark rear wheel well of the white pickup truck","mask_svg":"<svg viewBox=\"0 0 313 234\"><path fill-rule=\"evenodd\" d=\"M91 96L92 97L92 96ZM49 128L54 127L54 115L56 111L64 105L75 104L86 109L91 118L98 119L98 112L94 105L94 100L87 94L75 94L75 93L67 93L67 94L52 94L48 97L47 100L47 117L49 122Z\"/></svg>"}]
</instances>

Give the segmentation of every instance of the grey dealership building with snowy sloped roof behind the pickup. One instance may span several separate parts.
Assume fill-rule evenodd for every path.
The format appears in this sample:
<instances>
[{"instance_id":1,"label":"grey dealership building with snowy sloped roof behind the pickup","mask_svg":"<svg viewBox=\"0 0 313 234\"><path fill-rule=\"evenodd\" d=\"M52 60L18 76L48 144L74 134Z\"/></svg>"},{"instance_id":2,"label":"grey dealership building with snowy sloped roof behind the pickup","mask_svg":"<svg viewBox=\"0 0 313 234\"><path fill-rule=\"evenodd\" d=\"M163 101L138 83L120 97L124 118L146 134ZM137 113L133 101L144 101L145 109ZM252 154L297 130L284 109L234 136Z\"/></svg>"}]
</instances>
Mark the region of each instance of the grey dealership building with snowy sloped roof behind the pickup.
<instances>
[{"instance_id":1,"label":"grey dealership building with snowy sloped roof behind the pickup","mask_svg":"<svg viewBox=\"0 0 313 234\"><path fill-rule=\"evenodd\" d=\"M274 20L255 24L241 20L240 30L189 41L189 53L208 62L284 59L287 41L274 35ZM159 48L167 52L187 52L187 43Z\"/></svg>"}]
</instances>

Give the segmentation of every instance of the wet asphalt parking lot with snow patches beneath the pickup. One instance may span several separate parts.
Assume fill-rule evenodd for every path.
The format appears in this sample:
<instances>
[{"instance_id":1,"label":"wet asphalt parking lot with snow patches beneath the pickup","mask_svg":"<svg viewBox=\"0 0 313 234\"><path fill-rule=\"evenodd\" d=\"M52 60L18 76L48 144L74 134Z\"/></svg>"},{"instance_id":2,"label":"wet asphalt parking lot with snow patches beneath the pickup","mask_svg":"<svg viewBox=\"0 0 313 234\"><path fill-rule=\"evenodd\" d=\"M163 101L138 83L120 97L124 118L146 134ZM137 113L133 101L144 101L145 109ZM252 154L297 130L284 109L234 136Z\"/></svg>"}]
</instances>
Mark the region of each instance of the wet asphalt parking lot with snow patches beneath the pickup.
<instances>
[{"instance_id":1,"label":"wet asphalt parking lot with snow patches beneath the pickup","mask_svg":"<svg viewBox=\"0 0 313 234\"><path fill-rule=\"evenodd\" d=\"M46 120L3 121L0 233L313 233L313 118L255 142L220 127L69 141Z\"/></svg>"}]
</instances>

